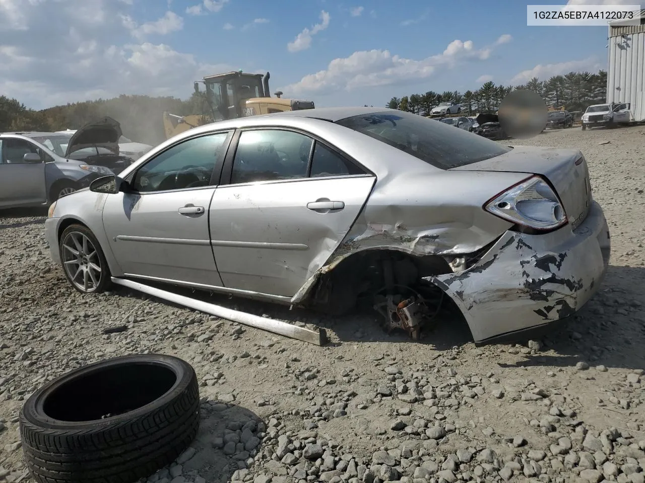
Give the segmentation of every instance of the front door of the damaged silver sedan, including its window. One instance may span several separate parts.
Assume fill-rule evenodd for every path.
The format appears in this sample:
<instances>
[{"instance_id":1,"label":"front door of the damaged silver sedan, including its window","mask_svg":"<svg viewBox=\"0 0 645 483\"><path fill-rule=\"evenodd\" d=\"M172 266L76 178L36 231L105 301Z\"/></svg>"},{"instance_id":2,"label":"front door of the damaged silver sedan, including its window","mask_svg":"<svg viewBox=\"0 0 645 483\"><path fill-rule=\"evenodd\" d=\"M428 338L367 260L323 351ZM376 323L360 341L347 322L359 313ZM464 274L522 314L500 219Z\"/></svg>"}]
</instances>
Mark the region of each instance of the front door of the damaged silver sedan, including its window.
<instances>
[{"instance_id":1,"label":"front door of the damaged silver sedan, including its window","mask_svg":"<svg viewBox=\"0 0 645 483\"><path fill-rule=\"evenodd\" d=\"M126 276L222 285L208 209L229 140L214 133L175 144L128 176L130 193L107 195L103 225Z\"/></svg>"}]
</instances>

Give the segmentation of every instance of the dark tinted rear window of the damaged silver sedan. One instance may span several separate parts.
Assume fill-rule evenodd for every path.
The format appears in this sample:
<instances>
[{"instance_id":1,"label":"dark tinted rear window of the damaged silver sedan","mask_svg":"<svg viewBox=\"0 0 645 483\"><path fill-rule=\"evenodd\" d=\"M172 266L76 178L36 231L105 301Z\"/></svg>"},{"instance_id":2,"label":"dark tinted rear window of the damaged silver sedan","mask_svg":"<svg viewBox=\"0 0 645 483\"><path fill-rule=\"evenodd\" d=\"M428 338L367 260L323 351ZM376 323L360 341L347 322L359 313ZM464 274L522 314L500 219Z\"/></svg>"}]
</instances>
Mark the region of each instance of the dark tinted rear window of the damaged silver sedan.
<instances>
[{"instance_id":1,"label":"dark tinted rear window of the damaged silver sedan","mask_svg":"<svg viewBox=\"0 0 645 483\"><path fill-rule=\"evenodd\" d=\"M510 147L455 129L443 122L403 111L380 111L336 121L441 169L501 156Z\"/></svg>"}]
</instances>

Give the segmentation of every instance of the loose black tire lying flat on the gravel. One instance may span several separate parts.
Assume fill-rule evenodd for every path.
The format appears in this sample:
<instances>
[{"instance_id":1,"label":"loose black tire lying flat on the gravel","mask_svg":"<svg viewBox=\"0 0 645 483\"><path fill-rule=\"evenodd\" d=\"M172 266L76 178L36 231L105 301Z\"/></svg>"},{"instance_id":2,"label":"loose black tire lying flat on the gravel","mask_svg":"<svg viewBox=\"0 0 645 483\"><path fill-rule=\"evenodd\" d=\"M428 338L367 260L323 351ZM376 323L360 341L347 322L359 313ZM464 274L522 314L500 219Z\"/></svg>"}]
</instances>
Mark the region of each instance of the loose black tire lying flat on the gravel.
<instances>
[{"instance_id":1,"label":"loose black tire lying flat on the gravel","mask_svg":"<svg viewBox=\"0 0 645 483\"><path fill-rule=\"evenodd\" d=\"M130 483L177 459L197 435L195 370L169 355L83 366L32 394L20 413L38 483Z\"/></svg>"}]
</instances>

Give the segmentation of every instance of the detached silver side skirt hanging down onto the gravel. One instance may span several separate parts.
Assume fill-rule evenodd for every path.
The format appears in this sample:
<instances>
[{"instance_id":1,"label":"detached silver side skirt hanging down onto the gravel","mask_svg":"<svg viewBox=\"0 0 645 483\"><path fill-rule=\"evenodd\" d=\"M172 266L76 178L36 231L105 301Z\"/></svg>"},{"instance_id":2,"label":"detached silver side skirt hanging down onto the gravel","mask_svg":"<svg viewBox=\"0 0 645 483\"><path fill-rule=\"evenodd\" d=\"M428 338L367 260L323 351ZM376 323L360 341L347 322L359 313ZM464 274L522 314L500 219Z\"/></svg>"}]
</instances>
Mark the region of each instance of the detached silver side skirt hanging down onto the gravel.
<instances>
[{"instance_id":1,"label":"detached silver side skirt hanging down onto the gravel","mask_svg":"<svg viewBox=\"0 0 645 483\"><path fill-rule=\"evenodd\" d=\"M124 278L112 277L112 283L123 285L123 287L128 287L128 289L144 292L144 294L152 295L153 297L179 303L180 305L193 308L194 310L199 310L200 312L205 312L206 314L239 322L250 327L261 328L262 330L273 332L273 334L291 337L292 339L319 346L323 346L328 342L327 332L324 328L319 328L318 332L314 332L313 330L297 327L296 325L280 320L255 316L253 314L248 314L247 312L241 312L240 310L233 310L232 308L222 307L221 305L215 305L214 303L208 303L202 300L174 294L173 292L168 292L168 290L157 289L156 287L151 287L150 285L145 285L144 283Z\"/></svg>"}]
</instances>

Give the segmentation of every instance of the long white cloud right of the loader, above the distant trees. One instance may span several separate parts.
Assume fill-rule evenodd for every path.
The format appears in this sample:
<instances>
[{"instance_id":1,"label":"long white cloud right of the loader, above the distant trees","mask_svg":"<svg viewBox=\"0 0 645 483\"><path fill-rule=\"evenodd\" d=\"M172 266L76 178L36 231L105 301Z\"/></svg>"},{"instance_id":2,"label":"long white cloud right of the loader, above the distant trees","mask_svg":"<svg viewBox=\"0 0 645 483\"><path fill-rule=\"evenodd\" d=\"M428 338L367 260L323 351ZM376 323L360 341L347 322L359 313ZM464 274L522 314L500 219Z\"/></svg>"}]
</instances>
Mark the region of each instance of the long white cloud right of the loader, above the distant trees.
<instances>
[{"instance_id":1,"label":"long white cloud right of the loader, above the distant trees","mask_svg":"<svg viewBox=\"0 0 645 483\"><path fill-rule=\"evenodd\" d=\"M420 81L438 69L453 68L466 61L488 59L492 47L475 49L472 41L452 41L444 52L420 61L392 55L389 50L363 50L333 59L325 70L304 76L282 90L289 95L324 94L339 90L386 86Z\"/></svg>"}]
</instances>

